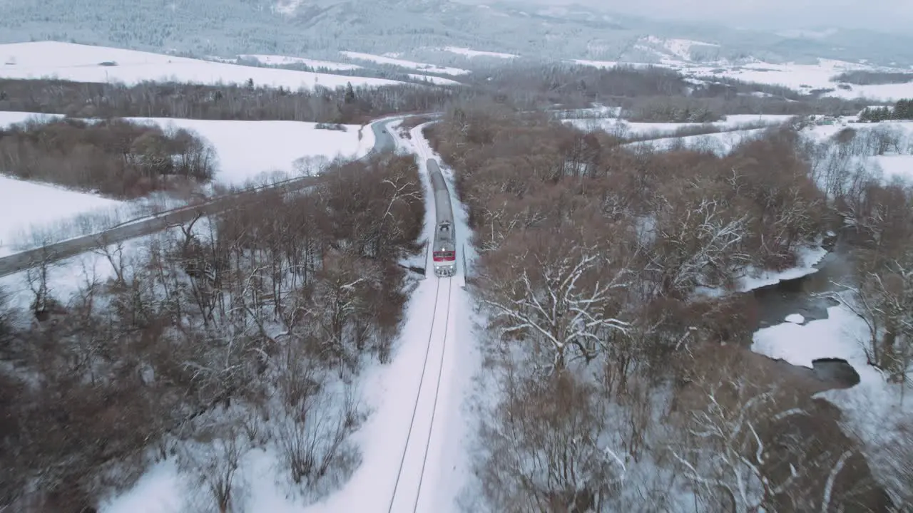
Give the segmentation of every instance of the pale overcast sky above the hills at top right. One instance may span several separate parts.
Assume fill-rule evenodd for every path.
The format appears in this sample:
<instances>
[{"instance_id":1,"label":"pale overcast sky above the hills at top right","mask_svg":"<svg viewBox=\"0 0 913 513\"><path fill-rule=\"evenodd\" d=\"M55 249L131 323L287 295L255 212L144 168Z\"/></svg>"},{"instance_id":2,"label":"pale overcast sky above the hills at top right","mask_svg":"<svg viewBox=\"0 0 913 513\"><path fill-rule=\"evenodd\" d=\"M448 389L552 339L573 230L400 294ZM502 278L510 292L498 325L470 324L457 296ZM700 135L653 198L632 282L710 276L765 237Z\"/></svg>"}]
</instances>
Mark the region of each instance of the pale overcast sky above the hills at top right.
<instances>
[{"instance_id":1,"label":"pale overcast sky above the hills at top right","mask_svg":"<svg viewBox=\"0 0 913 513\"><path fill-rule=\"evenodd\" d=\"M667 20L721 22L733 27L841 26L911 30L913 0L533 0L540 4L604 6ZM762 25L762 26L759 26Z\"/></svg>"}]
</instances>

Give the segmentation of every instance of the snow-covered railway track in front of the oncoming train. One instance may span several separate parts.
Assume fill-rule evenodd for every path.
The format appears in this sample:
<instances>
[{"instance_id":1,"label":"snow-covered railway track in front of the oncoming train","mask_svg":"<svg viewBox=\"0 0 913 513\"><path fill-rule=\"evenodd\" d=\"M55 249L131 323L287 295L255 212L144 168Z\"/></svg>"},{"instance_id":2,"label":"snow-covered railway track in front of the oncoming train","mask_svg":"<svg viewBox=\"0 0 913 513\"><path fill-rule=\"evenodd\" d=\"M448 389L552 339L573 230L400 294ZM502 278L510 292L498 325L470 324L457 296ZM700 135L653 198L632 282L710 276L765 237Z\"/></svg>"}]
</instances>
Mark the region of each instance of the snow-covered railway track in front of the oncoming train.
<instances>
[{"instance_id":1,"label":"snow-covered railway track in front of the oncoming train","mask_svg":"<svg viewBox=\"0 0 913 513\"><path fill-rule=\"evenodd\" d=\"M387 513L428 511L419 509L422 485L428 470L428 452L431 435L435 429L437 397L441 387L444 358L447 343L447 325L450 322L450 298L453 289L452 278L436 278L435 315L431 321L425 347L425 364L419 376L418 393L409 431L406 434L403 455L396 473L393 496ZM430 412L430 413L429 413Z\"/></svg>"}]
</instances>

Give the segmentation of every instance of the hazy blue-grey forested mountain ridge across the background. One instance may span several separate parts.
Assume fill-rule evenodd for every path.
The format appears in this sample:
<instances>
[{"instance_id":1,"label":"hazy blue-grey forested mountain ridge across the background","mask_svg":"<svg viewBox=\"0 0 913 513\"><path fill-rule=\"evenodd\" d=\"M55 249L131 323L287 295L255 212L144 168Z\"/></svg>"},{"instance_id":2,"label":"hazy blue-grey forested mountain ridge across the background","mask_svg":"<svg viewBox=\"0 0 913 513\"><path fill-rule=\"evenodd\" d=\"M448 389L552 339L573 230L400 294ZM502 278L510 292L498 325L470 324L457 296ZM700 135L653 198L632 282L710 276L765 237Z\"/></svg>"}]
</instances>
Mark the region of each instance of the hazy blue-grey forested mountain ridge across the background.
<instances>
[{"instance_id":1,"label":"hazy blue-grey forested mountain ridge across the background","mask_svg":"<svg viewBox=\"0 0 913 513\"><path fill-rule=\"evenodd\" d=\"M913 65L913 37L810 29L776 34L670 24L581 5L510 0L0 0L0 42L55 39L152 51L337 58L338 50L470 47L528 58ZM669 41L673 41L670 43ZM673 47L670 47L673 45Z\"/></svg>"}]
</instances>

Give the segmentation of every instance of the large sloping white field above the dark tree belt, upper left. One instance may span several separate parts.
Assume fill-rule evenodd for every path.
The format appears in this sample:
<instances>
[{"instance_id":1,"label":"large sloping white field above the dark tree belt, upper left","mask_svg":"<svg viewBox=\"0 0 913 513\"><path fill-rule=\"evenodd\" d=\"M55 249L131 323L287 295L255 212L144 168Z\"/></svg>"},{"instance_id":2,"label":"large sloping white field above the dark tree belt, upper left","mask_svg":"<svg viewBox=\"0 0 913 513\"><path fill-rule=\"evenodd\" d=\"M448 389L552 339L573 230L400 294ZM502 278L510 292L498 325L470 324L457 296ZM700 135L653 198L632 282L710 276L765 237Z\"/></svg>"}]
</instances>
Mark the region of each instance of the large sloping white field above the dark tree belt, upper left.
<instances>
[{"instance_id":1,"label":"large sloping white field above the dark tree belt, upper left","mask_svg":"<svg viewBox=\"0 0 913 513\"><path fill-rule=\"evenodd\" d=\"M335 89L353 86L390 86L395 80L346 77L293 69L254 68L180 58L150 52L73 43L43 41L0 45L0 77L5 79L55 78L77 82L122 82L176 80L199 84L243 84L253 79L257 86L313 89L320 85ZM115 62L117 66L101 66Z\"/></svg>"}]
</instances>

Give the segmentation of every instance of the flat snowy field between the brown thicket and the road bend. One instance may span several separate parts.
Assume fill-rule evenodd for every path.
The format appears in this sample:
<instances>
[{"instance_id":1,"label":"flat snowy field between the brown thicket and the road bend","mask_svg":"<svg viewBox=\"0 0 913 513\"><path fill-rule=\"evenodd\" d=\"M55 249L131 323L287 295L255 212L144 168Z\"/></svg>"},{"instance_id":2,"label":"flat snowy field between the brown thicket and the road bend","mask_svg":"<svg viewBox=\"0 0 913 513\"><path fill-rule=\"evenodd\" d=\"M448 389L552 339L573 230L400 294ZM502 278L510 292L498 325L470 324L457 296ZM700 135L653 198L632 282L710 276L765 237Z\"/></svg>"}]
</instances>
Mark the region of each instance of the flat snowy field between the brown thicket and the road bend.
<instances>
[{"instance_id":1,"label":"flat snowy field between the brown thicket and the road bend","mask_svg":"<svg viewBox=\"0 0 913 513\"><path fill-rule=\"evenodd\" d=\"M212 143L218 156L215 182L242 185L263 173L295 173L302 157L359 158L374 145L374 131L365 125L346 130L321 130L305 121L226 121L175 118L128 118L195 131ZM361 137L359 137L361 133Z\"/></svg>"}]
</instances>

